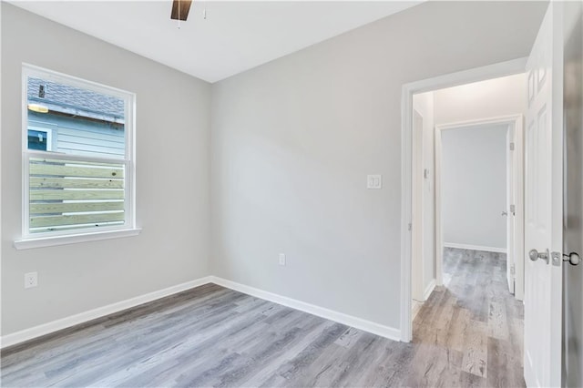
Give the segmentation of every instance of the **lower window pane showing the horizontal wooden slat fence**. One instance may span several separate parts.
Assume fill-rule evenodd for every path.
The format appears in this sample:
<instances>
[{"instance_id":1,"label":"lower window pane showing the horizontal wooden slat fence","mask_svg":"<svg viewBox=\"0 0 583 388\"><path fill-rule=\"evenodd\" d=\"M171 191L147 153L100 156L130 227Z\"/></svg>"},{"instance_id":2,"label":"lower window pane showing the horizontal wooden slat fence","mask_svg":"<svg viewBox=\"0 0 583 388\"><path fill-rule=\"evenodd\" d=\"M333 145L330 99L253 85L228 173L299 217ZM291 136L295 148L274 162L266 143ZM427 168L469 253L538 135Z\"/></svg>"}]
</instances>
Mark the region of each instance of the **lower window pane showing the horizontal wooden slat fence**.
<instances>
[{"instance_id":1,"label":"lower window pane showing the horizontal wooden slat fence","mask_svg":"<svg viewBox=\"0 0 583 388\"><path fill-rule=\"evenodd\" d=\"M123 225L125 165L29 159L30 232Z\"/></svg>"}]
</instances>

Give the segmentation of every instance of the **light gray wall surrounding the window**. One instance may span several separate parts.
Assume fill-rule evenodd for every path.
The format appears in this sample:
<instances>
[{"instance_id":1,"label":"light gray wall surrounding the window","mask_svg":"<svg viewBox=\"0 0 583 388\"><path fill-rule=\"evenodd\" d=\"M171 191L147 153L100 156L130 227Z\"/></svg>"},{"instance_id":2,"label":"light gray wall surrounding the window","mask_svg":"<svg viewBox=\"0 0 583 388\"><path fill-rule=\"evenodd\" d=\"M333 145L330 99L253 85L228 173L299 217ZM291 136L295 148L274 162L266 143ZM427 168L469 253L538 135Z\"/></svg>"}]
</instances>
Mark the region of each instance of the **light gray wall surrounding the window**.
<instances>
[{"instance_id":1,"label":"light gray wall surrounding the window","mask_svg":"<svg viewBox=\"0 0 583 388\"><path fill-rule=\"evenodd\" d=\"M2 4L2 334L209 275L210 85ZM21 66L137 94L138 237L15 250ZM25 290L24 273L39 285Z\"/></svg>"}]
</instances>

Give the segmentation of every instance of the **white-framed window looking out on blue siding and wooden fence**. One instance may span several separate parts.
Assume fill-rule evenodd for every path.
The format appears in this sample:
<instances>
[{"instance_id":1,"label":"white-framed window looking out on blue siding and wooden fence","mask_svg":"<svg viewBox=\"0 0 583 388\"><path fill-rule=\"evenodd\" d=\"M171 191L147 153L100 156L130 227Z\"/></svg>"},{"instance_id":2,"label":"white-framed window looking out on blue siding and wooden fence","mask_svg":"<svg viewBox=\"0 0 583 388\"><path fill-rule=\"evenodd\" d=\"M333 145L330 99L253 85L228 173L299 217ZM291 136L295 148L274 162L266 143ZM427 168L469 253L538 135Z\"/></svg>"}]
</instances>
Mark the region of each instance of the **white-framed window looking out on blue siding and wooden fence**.
<instances>
[{"instance_id":1,"label":"white-framed window looking out on blue siding and wooden fence","mask_svg":"<svg viewBox=\"0 0 583 388\"><path fill-rule=\"evenodd\" d=\"M136 230L134 98L23 66L23 239L16 248Z\"/></svg>"}]
</instances>

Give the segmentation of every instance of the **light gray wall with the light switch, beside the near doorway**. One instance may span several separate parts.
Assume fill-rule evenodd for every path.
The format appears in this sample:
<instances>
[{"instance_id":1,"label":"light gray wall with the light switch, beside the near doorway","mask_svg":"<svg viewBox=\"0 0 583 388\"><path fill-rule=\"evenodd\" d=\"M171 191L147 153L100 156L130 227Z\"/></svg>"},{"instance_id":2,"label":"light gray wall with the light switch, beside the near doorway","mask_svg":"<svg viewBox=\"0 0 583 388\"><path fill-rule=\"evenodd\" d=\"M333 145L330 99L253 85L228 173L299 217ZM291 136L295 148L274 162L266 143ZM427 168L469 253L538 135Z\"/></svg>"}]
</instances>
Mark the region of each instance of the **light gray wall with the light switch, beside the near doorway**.
<instances>
[{"instance_id":1,"label":"light gray wall with the light switch, beside the near doorway","mask_svg":"<svg viewBox=\"0 0 583 388\"><path fill-rule=\"evenodd\" d=\"M428 2L213 85L213 273L398 328L402 86L527 56L546 7Z\"/></svg>"}]
</instances>

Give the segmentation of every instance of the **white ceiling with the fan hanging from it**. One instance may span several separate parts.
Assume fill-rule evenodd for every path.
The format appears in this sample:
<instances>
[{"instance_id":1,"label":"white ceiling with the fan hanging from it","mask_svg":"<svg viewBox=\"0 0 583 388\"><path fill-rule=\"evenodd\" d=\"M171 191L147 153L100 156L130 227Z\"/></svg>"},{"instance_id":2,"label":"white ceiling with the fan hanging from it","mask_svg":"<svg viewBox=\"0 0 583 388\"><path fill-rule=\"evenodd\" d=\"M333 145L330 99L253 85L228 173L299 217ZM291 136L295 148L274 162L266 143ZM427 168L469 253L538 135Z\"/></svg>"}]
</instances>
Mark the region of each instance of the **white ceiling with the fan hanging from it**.
<instances>
[{"instance_id":1,"label":"white ceiling with the fan hanging from it","mask_svg":"<svg viewBox=\"0 0 583 388\"><path fill-rule=\"evenodd\" d=\"M166 1L12 1L209 82L322 42L421 1L194 1L180 29ZM203 19L203 9L207 19Z\"/></svg>"}]
</instances>

